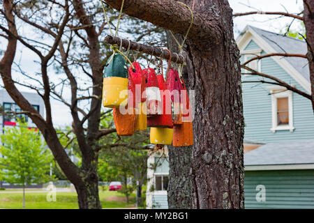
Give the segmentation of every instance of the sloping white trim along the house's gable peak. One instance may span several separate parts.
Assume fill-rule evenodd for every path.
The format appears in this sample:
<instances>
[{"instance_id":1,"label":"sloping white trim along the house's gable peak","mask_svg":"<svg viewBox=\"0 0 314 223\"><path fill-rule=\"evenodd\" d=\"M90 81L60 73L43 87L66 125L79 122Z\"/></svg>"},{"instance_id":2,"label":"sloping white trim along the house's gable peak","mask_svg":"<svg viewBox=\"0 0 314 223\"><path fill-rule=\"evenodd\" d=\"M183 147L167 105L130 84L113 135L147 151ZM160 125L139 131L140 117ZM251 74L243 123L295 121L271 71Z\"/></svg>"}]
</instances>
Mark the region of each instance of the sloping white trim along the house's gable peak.
<instances>
[{"instance_id":1,"label":"sloping white trim along the house's gable peak","mask_svg":"<svg viewBox=\"0 0 314 223\"><path fill-rule=\"evenodd\" d=\"M276 50L271 47L262 37L260 37L250 26L246 26L244 29L244 35L237 38L237 45L242 52L246 45L253 40L257 45L262 47L264 52L267 54L271 54L276 52ZM293 79L295 79L308 93L311 93L311 83L308 82L306 78L304 78L287 60L281 59L279 56L271 57L276 61L276 63L283 68Z\"/></svg>"}]
</instances>

